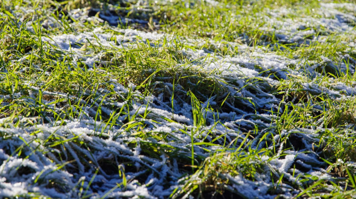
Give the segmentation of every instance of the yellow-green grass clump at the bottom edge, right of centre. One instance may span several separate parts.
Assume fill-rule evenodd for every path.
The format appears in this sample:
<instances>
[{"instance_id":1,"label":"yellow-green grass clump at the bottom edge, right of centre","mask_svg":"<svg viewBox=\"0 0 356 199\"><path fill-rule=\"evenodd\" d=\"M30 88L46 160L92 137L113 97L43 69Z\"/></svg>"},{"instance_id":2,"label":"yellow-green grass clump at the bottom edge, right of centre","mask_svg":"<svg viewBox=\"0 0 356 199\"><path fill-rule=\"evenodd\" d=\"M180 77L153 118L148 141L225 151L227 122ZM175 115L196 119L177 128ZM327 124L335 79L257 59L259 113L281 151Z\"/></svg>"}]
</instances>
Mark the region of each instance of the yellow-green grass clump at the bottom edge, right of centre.
<instances>
[{"instance_id":1,"label":"yellow-green grass clump at the bottom edge, right of centre","mask_svg":"<svg viewBox=\"0 0 356 199\"><path fill-rule=\"evenodd\" d=\"M254 181L256 175L263 171L264 163L258 157L263 153L268 153L266 150L255 151L251 148L248 149L250 144L245 145L246 138L241 142L236 152L231 153L227 150L207 157L197 167L197 171L183 181L184 187L174 193L172 195L173 198L187 198L191 194L201 198L206 194L222 195L227 191L231 192L230 194L235 197L245 198L243 194L231 189L230 186L233 184L238 185L238 182L234 181L234 177L241 176ZM240 151L244 145L246 151Z\"/></svg>"}]
</instances>

